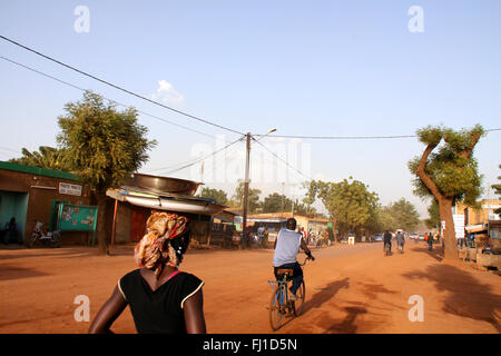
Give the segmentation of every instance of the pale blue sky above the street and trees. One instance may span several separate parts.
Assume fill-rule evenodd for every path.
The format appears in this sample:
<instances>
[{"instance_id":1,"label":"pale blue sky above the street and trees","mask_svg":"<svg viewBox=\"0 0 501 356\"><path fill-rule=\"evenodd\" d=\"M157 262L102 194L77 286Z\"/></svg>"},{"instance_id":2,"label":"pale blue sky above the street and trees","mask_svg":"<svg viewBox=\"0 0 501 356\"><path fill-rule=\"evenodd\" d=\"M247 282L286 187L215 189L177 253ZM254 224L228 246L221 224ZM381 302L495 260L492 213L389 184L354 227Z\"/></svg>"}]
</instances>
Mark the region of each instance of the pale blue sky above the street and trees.
<instances>
[{"instance_id":1,"label":"pale blue sky above the street and trees","mask_svg":"<svg viewBox=\"0 0 501 356\"><path fill-rule=\"evenodd\" d=\"M407 199L423 218L426 202L412 194L407 169L424 149L415 137L274 136L501 128L500 20L498 0L0 1L1 36L218 126L253 135L276 129L252 145L250 186L263 198L277 191L301 199L306 179L352 177L384 205ZM1 39L0 56L146 112L138 121L158 145L140 172L203 181L229 196L243 180L244 141L210 156L242 135ZM81 97L0 58L0 160L19 157L23 147L56 146L58 117ZM490 131L477 145L484 187L501 176L500 142L501 131ZM206 156L203 166L176 170Z\"/></svg>"}]
</instances>

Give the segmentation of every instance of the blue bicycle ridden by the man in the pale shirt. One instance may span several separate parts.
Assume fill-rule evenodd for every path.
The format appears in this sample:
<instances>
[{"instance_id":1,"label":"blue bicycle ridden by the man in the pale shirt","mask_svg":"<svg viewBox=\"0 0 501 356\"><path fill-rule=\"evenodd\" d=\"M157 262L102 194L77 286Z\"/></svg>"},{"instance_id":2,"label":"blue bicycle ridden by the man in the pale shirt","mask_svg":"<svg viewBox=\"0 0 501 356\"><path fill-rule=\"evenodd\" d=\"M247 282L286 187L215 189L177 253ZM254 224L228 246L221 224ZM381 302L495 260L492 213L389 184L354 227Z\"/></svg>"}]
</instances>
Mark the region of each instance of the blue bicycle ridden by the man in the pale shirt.
<instances>
[{"instance_id":1,"label":"blue bicycle ridden by the man in the pale shirt","mask_svg":"<svg viewBox=\"0 0 501 356\"><path fill-rule=\"evenodd\" d=\"M306 257L301 266L306 265L306 261L312 259ZM277 270L278 275L283 275L281 280L268 280L268 284L274 287L272 294L272 300L269 303L269 324L273 330L278 330L282 326L282 319L285 316L299 316L303 312L304 299L305 299L305 284L304 278L301 281L299 288L296 291L297 300L289 299L288 285L292 281L293 269L292 268L281 268Z\"/></svg>"}]
</instances>

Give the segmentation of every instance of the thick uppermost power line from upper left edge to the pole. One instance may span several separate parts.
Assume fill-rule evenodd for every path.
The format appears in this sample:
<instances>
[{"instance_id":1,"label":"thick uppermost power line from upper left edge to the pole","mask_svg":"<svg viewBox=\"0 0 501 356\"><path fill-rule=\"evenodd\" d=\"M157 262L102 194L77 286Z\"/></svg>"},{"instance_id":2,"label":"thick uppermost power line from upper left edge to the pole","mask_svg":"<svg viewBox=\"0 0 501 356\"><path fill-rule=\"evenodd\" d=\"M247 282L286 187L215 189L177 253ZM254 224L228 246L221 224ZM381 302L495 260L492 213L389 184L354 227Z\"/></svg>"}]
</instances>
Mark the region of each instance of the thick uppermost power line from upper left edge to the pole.
<instances>
[{"instance_id":1,"label":"thick uppermost power line from upper left edge to the pole","mask_svg":"<svg viewBox=\"0 0 501 356\"><path fill-rule=\"evenodd\" d=\"M206 120L206 119L202 119L202 118L196 117L196 116L194 116L194 115L190 115L190 113L187 113L187 112L184 112L184 111L174 109L174 108L171 108L171 107L168 107L168 106L163 105L163 103L160 103L160 102L157 102L157 101L155 101L155 100L148 99L148 98L146 98L146 97L141 96L141 95L138 95L138 93L136 93L136 92L134 92L134 91L130 91L130 90L128 90L128 89L121 88L121 87L119 87L119 86L117 86L117 85L114 85L114 83L111 83L111 82L109 82L109 81L106 81L106 80L104 80L104 79L100 79L100 78L98 78L98 77L96 77L96 76L89 75L88 72L85 72L85 71L82 71L82 70L80 70L80 69L77 69L77 68L75 68L75 67L72 67L72 66L69 66L69 65L67 65L67 63L63 63L63 62L61 62L60 60L57 60L57 59L55 59L55 58L52 58L52 57L49 57L49 56L47 56L47 55L43 55L43 53L41 53L41 52L39 52L39 51L32 49L32 48L29 48L29 47L27 47L27 46L24 46L24 44L21 44L21 43L19 43L19 42L16 42L16 41L13 41L13 40L11 40L11 39L4 37L4 36L1 36L1 34L0 34L0 38L3 39L3 40L6 40L6 41L8 41L8 42L10 42L10 43L12 43L12 44L16 44L16 46L18 46L18 47L20 47L20 48L23 48L23 49L26 49L26 50L28 50L28 51L30 51L30 52L37 55L37 56L40 56L40 57L42 57L42 58L46 58L46 59L48 59L48 60L50 60L50 61L52 61L52 62L55 62L55 63L57 63L57 65L60 65L60 66L66 67L66 68L68 68L68 69L71 69L71 70L73 70L73 71L76 71L76 72L78 72L78 73L80 73L80 75L84 75L84 76L89 77L89 78L91 78L91 79L94 79L94 80L97 80L97 81L99 81L99 82L102 82L102 83L105 83L105 85L107 85L107 86L109 86L109 87L112 87L112 88L115 88L115 89L121 90L121 91L124 91L124 92L126 92L126 93L128 93L128 95L135 96L135 97L137 97L137 98L139 98L139 99L146 100L146 101L148 101L148 102L151 102L151 103L157 105L157 106L159 106L159 107L163 107L163 108L165 108L165 109L171 110L171 111L174 111L174 112L176 112L176 113L186 116L186 117L188 117L188 118L190 118L190 119L198 120L198 121L200 121L200 122L204 122L204 123L212 125L212 126L214 126L214 127L224 129L224 130L226 130L226 131L230 131L230 132L238 134L238 135L244 135L243 132L239 132L239 131L237 131L237 130L227 128L227 127L225 127L225 126L222 126L222 125L218 125L218 123L215 123L215 122L212 122L212 121L208 121L208 120Z\"/></svg>"}]
</instances>

